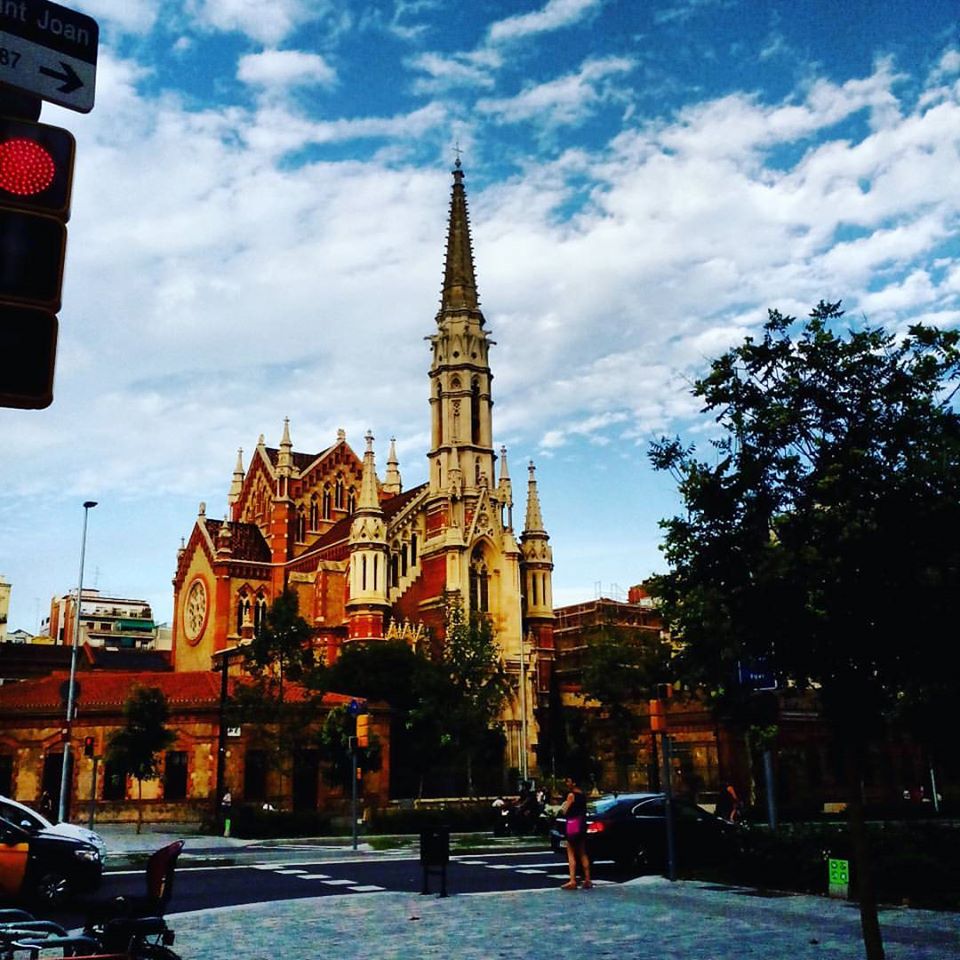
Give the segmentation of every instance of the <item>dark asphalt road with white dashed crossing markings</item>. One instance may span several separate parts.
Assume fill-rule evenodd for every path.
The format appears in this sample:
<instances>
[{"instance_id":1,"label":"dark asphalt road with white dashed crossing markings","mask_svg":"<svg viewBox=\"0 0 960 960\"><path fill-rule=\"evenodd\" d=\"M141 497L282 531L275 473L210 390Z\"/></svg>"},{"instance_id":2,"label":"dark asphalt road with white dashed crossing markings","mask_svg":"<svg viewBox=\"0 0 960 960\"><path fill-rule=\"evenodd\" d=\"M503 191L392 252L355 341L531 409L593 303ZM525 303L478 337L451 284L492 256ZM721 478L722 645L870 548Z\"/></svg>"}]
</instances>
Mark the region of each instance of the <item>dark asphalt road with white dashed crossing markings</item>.
<instances>
[{"instance_id":1,"label":"dark asphalt road with white dashed crossing markings","mask_svg":"<svg viewBox=\"0 0 960 960\"><path fill-rule=\"evenodd\" d=\"M248 863L177 867L168 913L209 910L244 903L296 900L303 897L378 893L419 894L423 870L416 856L324 858L314 848L272 848ZM598 882L616 883L626 877L612 863L595 865ZM489 893L558 887L567 878L566 864L549 850L524 853L489 853L454 856L447 869L447 892ZM435 871L428 877L432 893L440 890ZM96 899L141 894L142 869L108 872ZM77 926L83 902L54 911L51 919Z\"/></svg>"}]
</instances>

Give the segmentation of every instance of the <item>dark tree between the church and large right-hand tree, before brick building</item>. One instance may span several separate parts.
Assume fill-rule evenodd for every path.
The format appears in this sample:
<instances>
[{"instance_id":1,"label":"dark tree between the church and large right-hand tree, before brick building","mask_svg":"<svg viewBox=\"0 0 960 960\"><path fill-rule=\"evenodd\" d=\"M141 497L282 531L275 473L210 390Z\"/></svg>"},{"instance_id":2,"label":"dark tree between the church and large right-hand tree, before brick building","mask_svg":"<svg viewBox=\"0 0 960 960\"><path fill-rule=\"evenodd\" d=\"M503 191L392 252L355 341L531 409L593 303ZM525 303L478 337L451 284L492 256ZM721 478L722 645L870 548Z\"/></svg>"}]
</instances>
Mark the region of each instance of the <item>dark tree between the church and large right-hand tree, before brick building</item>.
<instances>
[{"instance_id":1,"label":"dark tree between the church and large right-hand tree, before brick building","mask_svg":"<svg viewBox=\"0 0 960 960\"><path fill-rule=\"evenodd\" d=\"M613 747L618 786L627 784L627 765L635 755L645 714L641 703L656 696L657 684L671 679L670 649L659 637L639 641L614 626L585 633L581 690L598 701L605 714L602 731Z\"/></svg>"}]
</instances>

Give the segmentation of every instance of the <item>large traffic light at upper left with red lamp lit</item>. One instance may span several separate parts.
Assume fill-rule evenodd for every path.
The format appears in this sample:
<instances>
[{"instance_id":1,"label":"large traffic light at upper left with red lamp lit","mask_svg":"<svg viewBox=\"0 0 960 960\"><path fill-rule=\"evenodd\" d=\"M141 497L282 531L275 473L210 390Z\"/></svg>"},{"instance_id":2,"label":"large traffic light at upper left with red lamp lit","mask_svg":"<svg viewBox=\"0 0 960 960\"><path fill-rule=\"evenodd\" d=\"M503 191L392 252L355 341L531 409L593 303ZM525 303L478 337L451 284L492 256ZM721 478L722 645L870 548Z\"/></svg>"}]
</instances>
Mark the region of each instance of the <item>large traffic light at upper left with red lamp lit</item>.
<instances>
[{"instance_id":1,"label":"large traffic light at upper left with red lamp lit","mask_svg":"<svg viewBox=\"0 0 960 960\"><path fill-rule=\"evenodd\" d=\"M53 400L75 151L68 130L0 117L0 406Z\"/></svg>"}]
</instances>

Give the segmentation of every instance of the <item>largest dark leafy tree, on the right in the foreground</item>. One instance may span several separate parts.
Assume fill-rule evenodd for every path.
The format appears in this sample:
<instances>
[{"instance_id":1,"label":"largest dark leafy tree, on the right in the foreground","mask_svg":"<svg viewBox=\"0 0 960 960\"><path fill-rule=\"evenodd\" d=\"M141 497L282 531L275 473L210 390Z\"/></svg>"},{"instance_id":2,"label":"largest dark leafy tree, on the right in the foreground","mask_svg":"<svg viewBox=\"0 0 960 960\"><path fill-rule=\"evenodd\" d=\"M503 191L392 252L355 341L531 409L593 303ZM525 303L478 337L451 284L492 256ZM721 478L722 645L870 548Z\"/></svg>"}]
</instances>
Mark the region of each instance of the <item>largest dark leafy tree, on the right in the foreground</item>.
<instances>
[{"instance_id":1,"label":"largest dark leafy tree, on the right in the foreground","mask_svg":"<svg viewBox=\"0 0 960 960\"><path fill-rule=\"evenodd\" d=\"M861 757L907 692L933 689L941 625L960 614L960 335L840 334L842 316L821 301L794 338L796 320L770 311L761 340L713 361L693 388L722 433L711 461L653 445L686 507L661 524L657 590L688 675L723 688L738 661L763 659L819 688L846 746L864 942L880 960Z\"/></svg>"}]
</instances>

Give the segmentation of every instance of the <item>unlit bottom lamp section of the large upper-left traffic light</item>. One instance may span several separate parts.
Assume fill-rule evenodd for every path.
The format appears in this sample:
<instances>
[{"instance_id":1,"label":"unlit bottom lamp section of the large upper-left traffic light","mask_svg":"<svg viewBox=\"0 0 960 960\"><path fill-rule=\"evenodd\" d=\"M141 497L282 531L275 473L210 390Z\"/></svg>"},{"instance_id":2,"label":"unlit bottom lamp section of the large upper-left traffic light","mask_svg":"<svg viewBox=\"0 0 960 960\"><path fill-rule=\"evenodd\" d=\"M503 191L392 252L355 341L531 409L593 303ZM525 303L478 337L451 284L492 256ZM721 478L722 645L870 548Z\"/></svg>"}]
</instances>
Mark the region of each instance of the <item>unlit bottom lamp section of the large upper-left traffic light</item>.
<instances>
[{"instance_id":1,"label":"unlit bottom lamp section of the large upper-left traffic light","mask_svg":"<svg viewBox=\"0 0 960 960\"><path fill-rule=\"evenodd\" d=\"M57 326L46 310L0 303L0 407L42 410L53 402Z\"/></svg>"}]
</instances>

